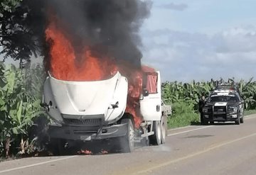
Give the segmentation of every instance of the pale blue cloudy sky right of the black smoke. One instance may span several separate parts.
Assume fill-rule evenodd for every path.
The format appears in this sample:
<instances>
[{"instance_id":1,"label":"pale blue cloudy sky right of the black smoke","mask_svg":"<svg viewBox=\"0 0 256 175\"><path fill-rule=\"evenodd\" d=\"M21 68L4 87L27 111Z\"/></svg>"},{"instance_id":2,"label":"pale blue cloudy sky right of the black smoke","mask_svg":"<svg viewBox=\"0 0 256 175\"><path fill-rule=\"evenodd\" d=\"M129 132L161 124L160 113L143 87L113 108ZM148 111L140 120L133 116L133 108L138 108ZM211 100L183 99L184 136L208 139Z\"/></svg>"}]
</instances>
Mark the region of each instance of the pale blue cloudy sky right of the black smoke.
<instances>
[{"instance_id":1,"label":"pale blue cloudy sky right of the black smoke","mask_svg":"<svg viewBox=\"0 0 256 175\"><path fill-rule=\"evenodd\" d=\"M142 62L164 81L256 76L255 0L154 0Z\"/></svg>"}]
</instances>

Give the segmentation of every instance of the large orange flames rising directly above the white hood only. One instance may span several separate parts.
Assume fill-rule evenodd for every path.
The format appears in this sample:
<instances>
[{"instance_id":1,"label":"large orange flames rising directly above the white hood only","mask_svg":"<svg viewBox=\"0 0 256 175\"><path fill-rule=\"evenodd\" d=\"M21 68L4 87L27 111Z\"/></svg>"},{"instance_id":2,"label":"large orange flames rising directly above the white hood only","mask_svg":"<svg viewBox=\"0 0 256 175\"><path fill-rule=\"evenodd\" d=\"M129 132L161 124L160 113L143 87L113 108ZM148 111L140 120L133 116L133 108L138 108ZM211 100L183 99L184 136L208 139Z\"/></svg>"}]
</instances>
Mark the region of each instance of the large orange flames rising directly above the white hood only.
<instances>
[{"instance_id":1,"label":"large orange flames rising directly above the white hood only","mask_svg":"<svg viewBox=\"0 0 256 175\"><path fill-rule=\"evenodd\" d=\"M50 72L56 79L96 81L107 79L117 72L112 60L93 57L90 47L82 50L82 62L77 62L73 46L53 22L46 29L46 41L51 44Z\"/></svg>"}]
</instances>

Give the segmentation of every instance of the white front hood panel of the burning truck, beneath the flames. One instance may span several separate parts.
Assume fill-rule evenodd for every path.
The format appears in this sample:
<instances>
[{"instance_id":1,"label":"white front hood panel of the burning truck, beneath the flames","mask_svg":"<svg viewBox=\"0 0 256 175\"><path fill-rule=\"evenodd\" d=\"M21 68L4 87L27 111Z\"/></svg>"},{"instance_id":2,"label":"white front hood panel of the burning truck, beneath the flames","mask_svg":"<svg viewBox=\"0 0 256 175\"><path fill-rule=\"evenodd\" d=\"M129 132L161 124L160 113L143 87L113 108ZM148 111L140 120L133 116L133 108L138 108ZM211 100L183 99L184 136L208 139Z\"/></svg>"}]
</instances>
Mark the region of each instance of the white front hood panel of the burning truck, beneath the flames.
<instances>
[{"instance_id":1,"label":"white front hood panel of the burning truck, beneath the flames","mask_svg":"<svg viewBox=\"0 0 256 175\"><path fill-rule=\"evenodd\" d=\"M60 113L67 115L107 115L115 103L114 91L121 74L102 81L63 81L50 77L50 88Z\"/></svg>"}]
</instances>

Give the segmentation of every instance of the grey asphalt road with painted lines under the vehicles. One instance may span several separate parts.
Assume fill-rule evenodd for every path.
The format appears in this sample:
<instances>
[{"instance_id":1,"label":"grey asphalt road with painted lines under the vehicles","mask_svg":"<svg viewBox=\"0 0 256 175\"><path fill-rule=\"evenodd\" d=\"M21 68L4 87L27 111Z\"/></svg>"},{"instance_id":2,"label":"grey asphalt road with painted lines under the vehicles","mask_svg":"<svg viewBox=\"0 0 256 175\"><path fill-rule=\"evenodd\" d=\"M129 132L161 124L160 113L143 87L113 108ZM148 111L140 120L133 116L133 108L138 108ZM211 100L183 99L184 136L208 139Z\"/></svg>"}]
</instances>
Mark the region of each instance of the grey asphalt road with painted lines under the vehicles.
<instances>
[{"instance_id":1,"label":"grey asphalt road with painted lines under the vehicles","mask_svg":"<svg viewBox=\"0 0 256 175\"><path fill-rule=\"evenodd\" d=\"M0 175L256 174L256 115L245 123L169 130L166 144L131 154L32 157L0 163Z\"/></svg>"}]
</instances>

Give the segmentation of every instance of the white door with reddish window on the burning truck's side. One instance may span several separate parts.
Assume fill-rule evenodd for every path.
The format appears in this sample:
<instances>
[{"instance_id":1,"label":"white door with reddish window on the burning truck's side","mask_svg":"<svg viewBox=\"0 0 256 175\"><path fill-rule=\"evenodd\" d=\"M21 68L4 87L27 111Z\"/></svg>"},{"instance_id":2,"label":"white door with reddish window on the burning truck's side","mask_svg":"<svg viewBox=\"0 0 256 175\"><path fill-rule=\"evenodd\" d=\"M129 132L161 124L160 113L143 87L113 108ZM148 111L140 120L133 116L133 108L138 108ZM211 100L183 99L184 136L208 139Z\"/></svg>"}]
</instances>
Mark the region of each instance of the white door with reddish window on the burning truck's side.
<instances>
[{"instance_id":1,"label":"white door with reddish window on the burning truck's side","mask_svg":"<svg viewBox=\"0 0 256 175\"><path fill-rule=\"evenodd\" d=\"M160 72L147 72L143 81L144 93L140 99L140 110L144 120L161 120Z\"/></svg>"}]
</instances>

